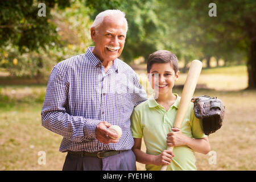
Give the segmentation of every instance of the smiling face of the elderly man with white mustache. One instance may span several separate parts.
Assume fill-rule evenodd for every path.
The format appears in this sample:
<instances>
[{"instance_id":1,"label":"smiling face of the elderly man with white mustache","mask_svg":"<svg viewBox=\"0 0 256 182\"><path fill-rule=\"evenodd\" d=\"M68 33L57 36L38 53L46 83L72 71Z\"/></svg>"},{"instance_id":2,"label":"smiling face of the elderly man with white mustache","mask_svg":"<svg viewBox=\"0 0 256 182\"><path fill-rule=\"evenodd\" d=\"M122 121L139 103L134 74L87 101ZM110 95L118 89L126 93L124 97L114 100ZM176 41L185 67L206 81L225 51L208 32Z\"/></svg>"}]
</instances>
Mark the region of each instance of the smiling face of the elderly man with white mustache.
<instances>
[{"instance_id":1,"label":"smiling face of the elderly man with white mustache","mask_svg":"<svg viewBox=\"0 0 256 182\"><path fill-rule=\"evenodd\" d=\"M126 38L123 18L106 17L97 30L91 28L90 32L95 43L93 53L101 61L113 61L121 55Z\"/></svg>"}]
</instances>

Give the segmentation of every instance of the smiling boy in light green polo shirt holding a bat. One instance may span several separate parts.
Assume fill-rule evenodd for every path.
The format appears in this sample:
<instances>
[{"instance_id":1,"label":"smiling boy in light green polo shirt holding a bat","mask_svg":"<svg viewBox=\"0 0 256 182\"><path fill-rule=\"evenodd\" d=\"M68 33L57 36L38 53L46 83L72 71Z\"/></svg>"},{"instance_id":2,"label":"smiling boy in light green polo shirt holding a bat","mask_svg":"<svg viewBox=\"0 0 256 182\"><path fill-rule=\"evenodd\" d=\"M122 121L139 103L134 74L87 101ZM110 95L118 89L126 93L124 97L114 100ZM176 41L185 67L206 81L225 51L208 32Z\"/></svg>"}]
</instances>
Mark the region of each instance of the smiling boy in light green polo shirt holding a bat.
<instances>
[{"instance_id":1,"label":"smiling boy in light green polo shirt holding a bat","mask_svg":"<svg viewBox=\"0 0 256 182\"><path fill-rule=\"evenodd\" d=\"M196 170L194 152L207 154L210 144L201 129L201 121L193 113L192 102L181 129L173 128L180 101L180 97L172 93L179 78L177 57L165 50L152 53L147 61L147 76L157 97L151 96L135 107L131 115L137 162L154 171L160 170L162 165L168 165L167 170ZM142 137L146 153L141 151ZM167 146L174 146L174 150L167 151Z\"/></svg>"}]
</instances>

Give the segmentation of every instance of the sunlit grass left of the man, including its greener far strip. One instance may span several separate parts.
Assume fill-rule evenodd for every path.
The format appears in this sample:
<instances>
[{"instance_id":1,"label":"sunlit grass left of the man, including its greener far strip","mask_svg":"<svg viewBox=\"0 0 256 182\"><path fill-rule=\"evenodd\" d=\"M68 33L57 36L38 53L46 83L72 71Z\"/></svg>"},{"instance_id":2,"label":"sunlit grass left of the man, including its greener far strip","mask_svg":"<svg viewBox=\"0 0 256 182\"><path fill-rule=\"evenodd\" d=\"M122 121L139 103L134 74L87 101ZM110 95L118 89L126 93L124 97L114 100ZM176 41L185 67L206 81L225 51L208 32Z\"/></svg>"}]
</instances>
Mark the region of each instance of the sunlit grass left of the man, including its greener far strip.
<instances>
[{"instance_id":1,"label":"sunlit grass left of the man, including its greener far strip","mask_svg":"<svg viewBox=\"0 0 256 182\"><path fill-rule=\"evenodd\" d=\"M0 170L61 170L61 136L41 125L46 86L0 89ZM39 151L46 152L46 165L39 165Z\"/></svg>"}]
</instances>

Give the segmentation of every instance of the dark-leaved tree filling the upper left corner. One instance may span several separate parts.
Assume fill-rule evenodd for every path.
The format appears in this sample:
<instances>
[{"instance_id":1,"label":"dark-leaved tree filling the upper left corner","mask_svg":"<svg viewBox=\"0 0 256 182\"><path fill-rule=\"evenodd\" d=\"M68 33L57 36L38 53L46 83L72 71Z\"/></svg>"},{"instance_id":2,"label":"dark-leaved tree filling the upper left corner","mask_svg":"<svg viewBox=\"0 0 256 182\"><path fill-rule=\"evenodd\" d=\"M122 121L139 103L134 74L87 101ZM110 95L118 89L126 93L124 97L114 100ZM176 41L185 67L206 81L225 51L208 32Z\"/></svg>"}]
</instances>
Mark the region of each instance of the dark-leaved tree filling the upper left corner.
<instances>
[{"instance_id":1,"label":"dark-leaved tree filling the upper left corner","mask_svg":"<svg viewBox=\"0 0 256 182\"><path fill-rule=\"evenodd\" d=\"M39 6L42 5L42 6ZM40 76L47 53L59 44L51 10L70 6L69 1L1 1L0 2L0 67L11 76ZM43 16L40 16L43 11ZM18 59L17 59L18 58ZM20 64L22 63L22 64Z\"/></svg>"}]
</instances>

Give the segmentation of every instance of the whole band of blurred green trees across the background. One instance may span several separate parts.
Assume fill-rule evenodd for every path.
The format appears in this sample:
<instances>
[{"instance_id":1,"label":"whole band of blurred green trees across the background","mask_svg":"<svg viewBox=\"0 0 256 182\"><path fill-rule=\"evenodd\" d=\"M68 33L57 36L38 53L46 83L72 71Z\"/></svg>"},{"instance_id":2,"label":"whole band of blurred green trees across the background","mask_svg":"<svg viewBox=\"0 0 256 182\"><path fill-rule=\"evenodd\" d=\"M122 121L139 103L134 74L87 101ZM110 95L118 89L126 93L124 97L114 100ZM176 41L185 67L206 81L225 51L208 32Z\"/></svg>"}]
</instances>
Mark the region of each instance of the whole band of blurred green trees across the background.
<instances>
[{"instance_id":1,"label":"whole band of blurred green trees across the background","mask_svg":"<svg viewBox=\"0 0 256 182\"><path fill-rule=\"evenodd\" d=\"M38 4L46 16L38 16ZM209 16L210 3L216 15ZM0 68L11 76L48 78L57 62L84 53L95 16L106 9L126 13L129 31L122 60L146 61L158 49L174 52L186 71L193 59L246 64L248 88L256 88L256 2L253 0L1 1Z\"/></svg>"}]
</instances>

